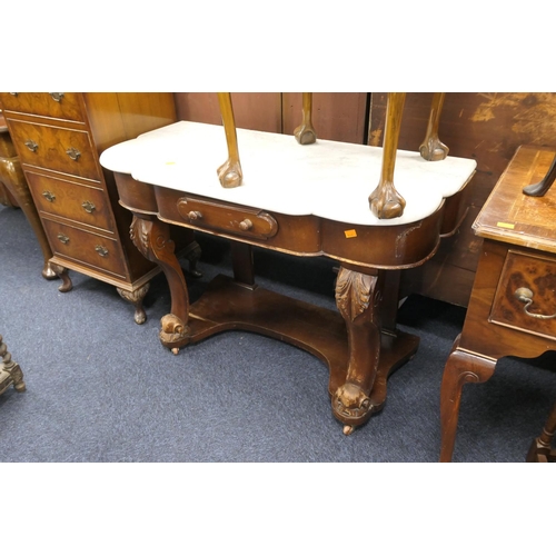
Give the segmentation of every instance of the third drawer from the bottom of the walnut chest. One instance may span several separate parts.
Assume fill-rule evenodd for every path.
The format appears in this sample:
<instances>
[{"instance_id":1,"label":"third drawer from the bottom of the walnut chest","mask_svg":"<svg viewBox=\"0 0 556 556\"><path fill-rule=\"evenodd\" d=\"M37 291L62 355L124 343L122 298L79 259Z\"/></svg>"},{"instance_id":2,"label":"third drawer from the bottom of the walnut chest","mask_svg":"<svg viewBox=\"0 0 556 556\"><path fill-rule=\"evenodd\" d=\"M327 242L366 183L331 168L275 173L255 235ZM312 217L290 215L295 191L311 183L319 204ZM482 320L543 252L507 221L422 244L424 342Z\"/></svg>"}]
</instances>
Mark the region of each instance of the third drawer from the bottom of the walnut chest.
<instances>
[{"instance_id":1,"label":"third drawer from the bottom of the walnut chest","mask_svg":"<svg viewBox=\"0 0 556 556\"><path fill-rule=\"evenodd\" d=\"M97 157L87 131L8 119L22 163L99 180Z\"/></svg>"}]
</instances>

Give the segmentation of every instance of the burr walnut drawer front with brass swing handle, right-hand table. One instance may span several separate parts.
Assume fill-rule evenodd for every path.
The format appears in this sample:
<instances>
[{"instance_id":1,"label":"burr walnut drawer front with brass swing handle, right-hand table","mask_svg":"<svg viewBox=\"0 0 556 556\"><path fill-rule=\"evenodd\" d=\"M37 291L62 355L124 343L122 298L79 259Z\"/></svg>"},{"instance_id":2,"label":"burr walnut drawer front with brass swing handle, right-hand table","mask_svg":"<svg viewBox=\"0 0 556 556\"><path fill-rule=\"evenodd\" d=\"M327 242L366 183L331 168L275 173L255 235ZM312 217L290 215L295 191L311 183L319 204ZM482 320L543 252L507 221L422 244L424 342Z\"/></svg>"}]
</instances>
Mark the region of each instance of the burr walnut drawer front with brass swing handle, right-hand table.
<instances>
[{"instance_id":1,"label":"burr walnut drawer front with brass swing handle, right-hand table","mask_svg":"<svg viewBox=\"0 0 556 556\"><path fill-rule=\"evenodd\" d=\"M556 258L508 251L489 320L555 339Z\"/></svg>"}]
</instances>

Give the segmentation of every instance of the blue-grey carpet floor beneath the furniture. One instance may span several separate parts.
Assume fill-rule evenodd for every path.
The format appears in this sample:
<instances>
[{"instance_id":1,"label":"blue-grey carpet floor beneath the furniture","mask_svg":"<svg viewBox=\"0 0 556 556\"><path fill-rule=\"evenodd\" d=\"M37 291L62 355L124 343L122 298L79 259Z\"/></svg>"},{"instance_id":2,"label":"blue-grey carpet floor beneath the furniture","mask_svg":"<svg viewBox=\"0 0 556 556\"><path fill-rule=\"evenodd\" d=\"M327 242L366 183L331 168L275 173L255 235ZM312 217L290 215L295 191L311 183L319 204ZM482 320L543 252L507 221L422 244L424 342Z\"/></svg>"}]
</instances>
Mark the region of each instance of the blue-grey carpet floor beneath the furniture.
<instances>
[{"instance_id":1,"label":"blue-grey carpet floor beneath the furniture","mask_svg":"<svg viewBox=\"0 0 556 556\"><path fill-rule=\"evenodd\" d=\"M230 274L226 241L199 237L198 297ZM410 296L399 328L420 337L391 375L384 410L351 436L334 419L328 371L314 356L259 335L224 332L173 356L158 340L169 312L162 275L138 326L116 289L71 272L73 289L41 275L21 210L0 206L0 334L27 391L0 396L0 461L434 463L439 387L465 309ZM257 250L259 285L335 308L334 264ZM505 358L464 388L455 461L523 461L556 399L553 353Z\"/></svg>"}]
</instances>

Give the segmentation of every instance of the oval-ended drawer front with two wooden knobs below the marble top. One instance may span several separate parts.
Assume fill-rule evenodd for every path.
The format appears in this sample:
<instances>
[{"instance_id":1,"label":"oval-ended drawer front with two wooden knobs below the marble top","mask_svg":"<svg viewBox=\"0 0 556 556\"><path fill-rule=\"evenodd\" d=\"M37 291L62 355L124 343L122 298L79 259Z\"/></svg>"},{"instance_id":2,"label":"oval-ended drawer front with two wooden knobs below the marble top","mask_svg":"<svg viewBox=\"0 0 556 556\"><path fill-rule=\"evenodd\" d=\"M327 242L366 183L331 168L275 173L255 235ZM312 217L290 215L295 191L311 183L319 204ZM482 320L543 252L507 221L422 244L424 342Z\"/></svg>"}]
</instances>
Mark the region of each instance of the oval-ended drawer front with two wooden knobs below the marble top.
<instances>
[{"instance_id":1,"label":"oval-ended drawer front with two wooden knobs below the marble top","mask_svg":"<svg viewBox=\"0 0 556 556\"><path fill-rule=\"evenodd\" d=\"M234 207L209 200L182 197L178 212L185 221L200 229L266 240L276 236L278 222L268 212ZM161 216L163 217L162 212Z\"/></svg>"}]
</instances>

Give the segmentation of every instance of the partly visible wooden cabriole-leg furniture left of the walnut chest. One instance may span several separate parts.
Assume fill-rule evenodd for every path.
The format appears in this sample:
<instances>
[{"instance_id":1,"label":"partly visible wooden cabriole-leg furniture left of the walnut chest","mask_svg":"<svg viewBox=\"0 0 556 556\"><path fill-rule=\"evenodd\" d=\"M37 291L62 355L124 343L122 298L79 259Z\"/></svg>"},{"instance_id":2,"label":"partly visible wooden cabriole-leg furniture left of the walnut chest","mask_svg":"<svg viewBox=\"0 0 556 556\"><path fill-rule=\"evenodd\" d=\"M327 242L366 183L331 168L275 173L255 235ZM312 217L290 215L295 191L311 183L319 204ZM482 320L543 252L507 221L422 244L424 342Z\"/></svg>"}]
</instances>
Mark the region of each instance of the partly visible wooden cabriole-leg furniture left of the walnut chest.
<instances>
[{"instance_id":1,"label":"partly visible wooden cabriole-leg furniture left of the walnut chest","mask_svg":"<svg viewBox=\"0 0 556 556\"><path fill-rule=\"evenodd\" d=\"M56 272L50 267L52 250L2 113L0 113L0 182L6 188L3 195L0 195L0 202L8 207L20 208L37 236L44 259L42 276L47 279L56 278Z\"/></svg>"}]
</instances>

